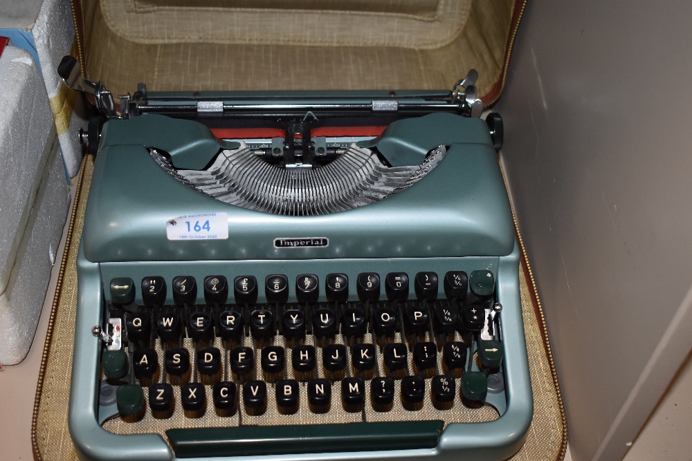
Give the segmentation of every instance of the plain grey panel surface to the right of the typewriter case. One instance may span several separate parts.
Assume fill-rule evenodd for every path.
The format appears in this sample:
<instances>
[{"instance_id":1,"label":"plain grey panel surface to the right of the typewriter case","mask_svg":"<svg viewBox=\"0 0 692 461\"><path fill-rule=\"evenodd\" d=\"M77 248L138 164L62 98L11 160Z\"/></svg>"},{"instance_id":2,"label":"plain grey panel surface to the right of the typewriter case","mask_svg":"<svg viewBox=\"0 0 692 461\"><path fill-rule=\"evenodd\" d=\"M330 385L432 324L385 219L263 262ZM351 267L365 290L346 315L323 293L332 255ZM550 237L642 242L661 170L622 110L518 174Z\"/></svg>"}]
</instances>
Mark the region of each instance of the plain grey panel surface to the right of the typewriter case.
<instances>
[{"instance_id":1,"label":"plain grey panel surface to the right of the typewriter case","mask_svg":"<svg viewBox=\"0 0 692 461\"><path fill-rule=\"evenodd\" d=\"M574 460L621 458L692 344L691 24L529 0L495 106Z\"/></svg>"}]
</instances>

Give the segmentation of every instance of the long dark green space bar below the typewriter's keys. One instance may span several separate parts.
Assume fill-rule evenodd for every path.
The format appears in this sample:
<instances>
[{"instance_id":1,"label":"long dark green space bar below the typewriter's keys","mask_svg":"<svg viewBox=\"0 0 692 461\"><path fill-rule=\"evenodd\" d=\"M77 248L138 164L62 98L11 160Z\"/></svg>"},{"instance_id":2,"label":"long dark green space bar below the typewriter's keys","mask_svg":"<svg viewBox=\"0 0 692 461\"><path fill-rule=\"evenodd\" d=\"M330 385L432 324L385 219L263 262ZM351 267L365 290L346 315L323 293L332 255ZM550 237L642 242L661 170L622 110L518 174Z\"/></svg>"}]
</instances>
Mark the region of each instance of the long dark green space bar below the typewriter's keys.
<instances>
[{"instance_id":1,"label":"long dark green space bar below the typewriter's keys","mask_svg":"<svg viewBox=\"0 0 692 461\"><path fill-rule=\"evenodd\" d=\"M441 421L169 429L176 458L433 448Z\"/></svg>"}]
</instances>

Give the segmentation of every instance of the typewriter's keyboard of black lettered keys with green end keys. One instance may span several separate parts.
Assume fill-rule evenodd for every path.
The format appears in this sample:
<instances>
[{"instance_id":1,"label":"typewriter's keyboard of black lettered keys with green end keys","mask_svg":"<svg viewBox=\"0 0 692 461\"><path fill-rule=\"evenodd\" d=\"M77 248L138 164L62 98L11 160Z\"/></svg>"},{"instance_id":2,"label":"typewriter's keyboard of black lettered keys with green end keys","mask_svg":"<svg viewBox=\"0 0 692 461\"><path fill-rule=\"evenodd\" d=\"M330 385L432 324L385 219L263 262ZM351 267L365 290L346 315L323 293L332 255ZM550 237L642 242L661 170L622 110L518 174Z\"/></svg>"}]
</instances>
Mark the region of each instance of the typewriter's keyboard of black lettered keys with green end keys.
<instances>
[{"instance_id":1,"label":"typewriter's keyboard of black lettered keys with green end keys","mask_svg":"<svg viewBox=\"0 0 692 461\"><path fill-rule=\"evenodd\" d=\"M109 288L100 407L117 408L101 417L111 431L448 424L502 413L495 403L504 399L502 306L488 270L441 280L435 272L350 281L346 274L149 276L138 284L119 277ZM137 289L143 305L134 302ZM257 303L260 290L266 303ZM289 290L297 303L286 302ZM358 301L347 301L349 290Z\"/></svg>"}]
</instances>

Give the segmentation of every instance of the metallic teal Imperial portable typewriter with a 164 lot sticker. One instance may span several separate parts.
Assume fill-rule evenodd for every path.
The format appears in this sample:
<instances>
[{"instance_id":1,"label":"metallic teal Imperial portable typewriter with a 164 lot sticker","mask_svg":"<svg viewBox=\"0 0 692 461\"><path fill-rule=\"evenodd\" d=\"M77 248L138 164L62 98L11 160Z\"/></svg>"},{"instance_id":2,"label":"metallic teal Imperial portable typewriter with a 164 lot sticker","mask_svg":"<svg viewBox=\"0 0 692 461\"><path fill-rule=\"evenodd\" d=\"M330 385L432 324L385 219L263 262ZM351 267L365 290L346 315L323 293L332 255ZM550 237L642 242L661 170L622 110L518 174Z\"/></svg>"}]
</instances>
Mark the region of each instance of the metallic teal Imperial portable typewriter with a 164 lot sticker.
<instances>
[{"instance_id":1,"label":"metallic teal Imperial portable typewriter with a 164 lot sticker","mask_svg":"<svg viewBox=\"0 0 692 461\"><path fill-rule=\"evenodd\" d=\"M533 401L519 250L453 91L113 97L78 256L82 458L502 460Z\"/></svg>"}]
</instances>

